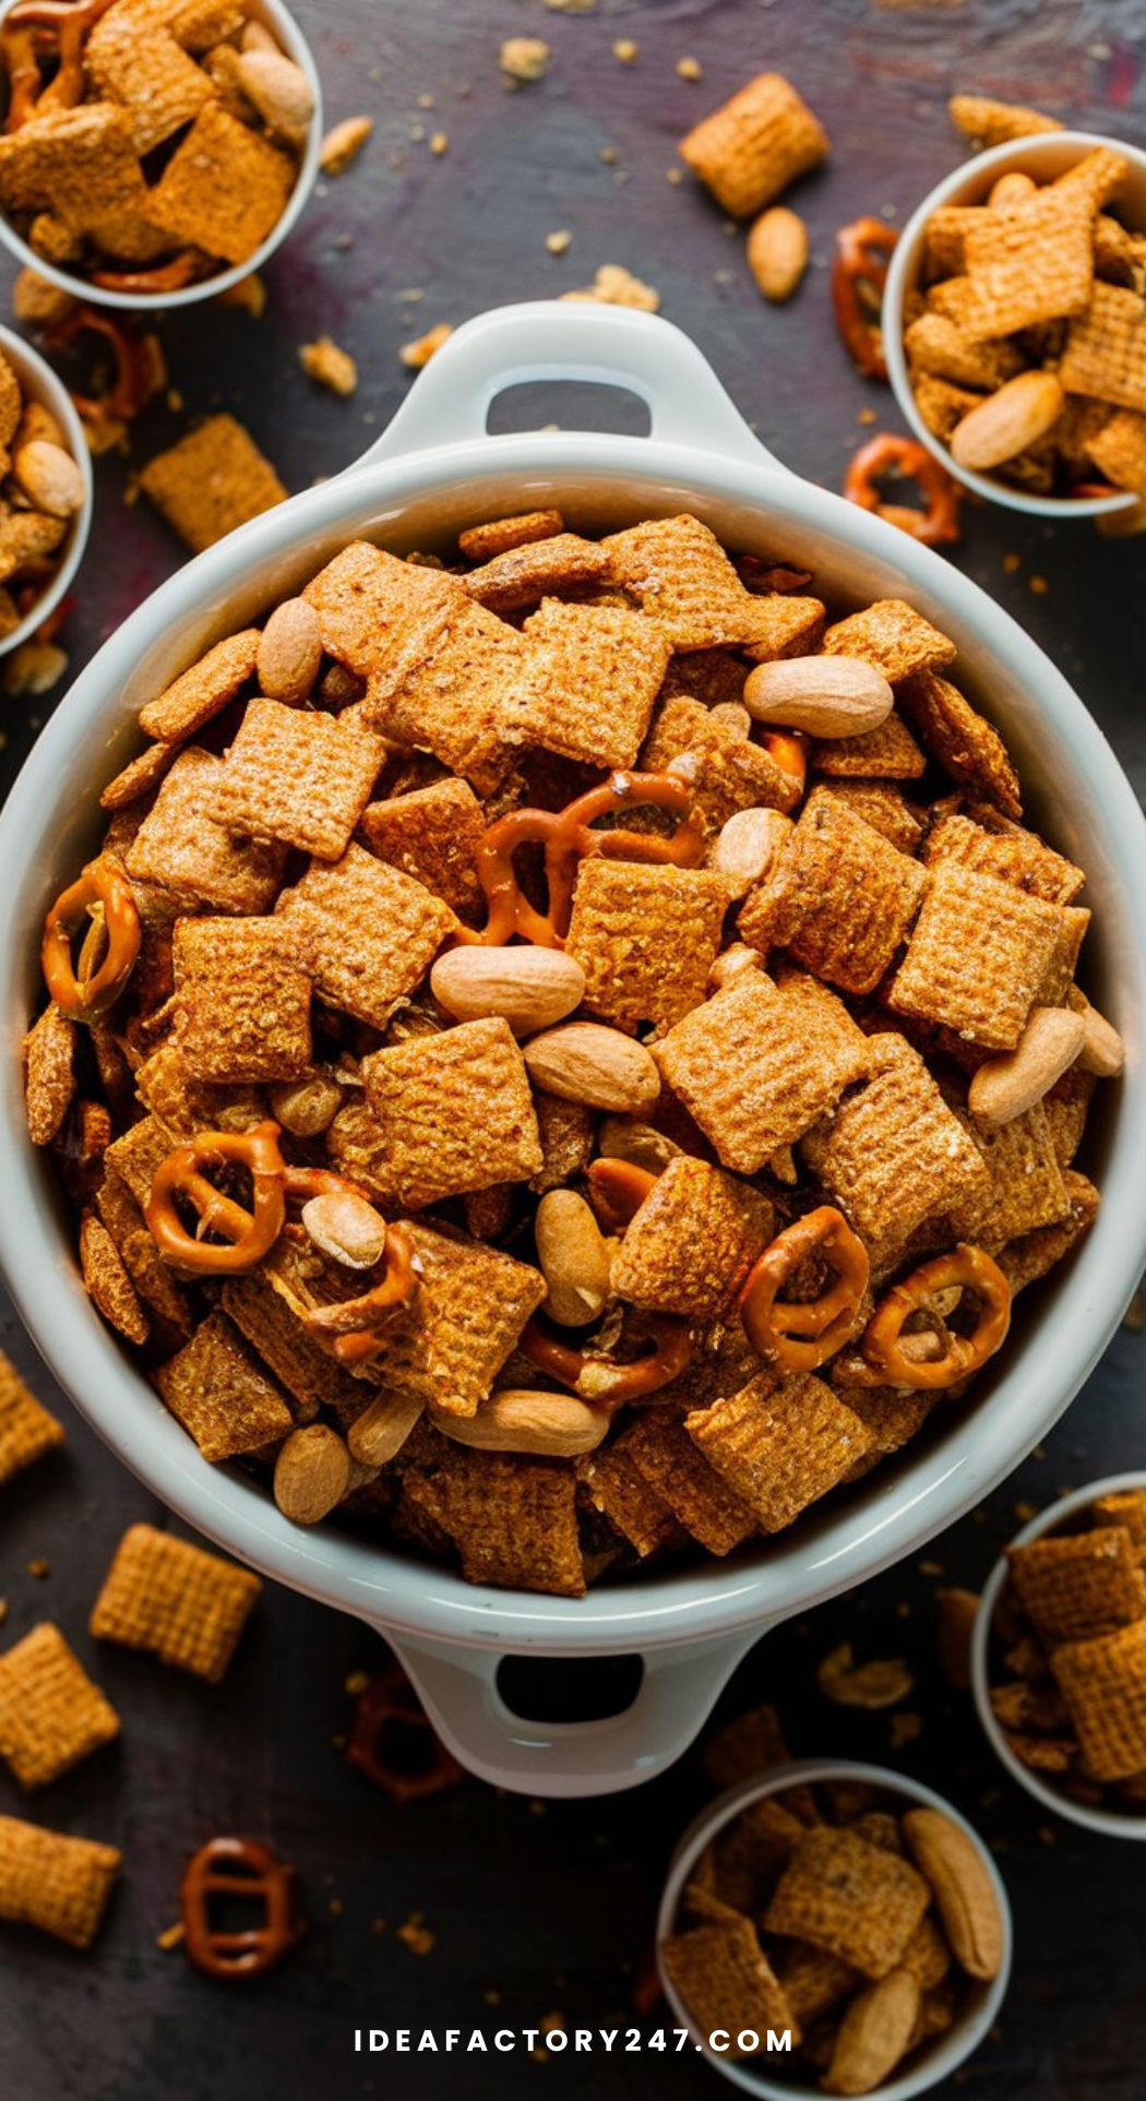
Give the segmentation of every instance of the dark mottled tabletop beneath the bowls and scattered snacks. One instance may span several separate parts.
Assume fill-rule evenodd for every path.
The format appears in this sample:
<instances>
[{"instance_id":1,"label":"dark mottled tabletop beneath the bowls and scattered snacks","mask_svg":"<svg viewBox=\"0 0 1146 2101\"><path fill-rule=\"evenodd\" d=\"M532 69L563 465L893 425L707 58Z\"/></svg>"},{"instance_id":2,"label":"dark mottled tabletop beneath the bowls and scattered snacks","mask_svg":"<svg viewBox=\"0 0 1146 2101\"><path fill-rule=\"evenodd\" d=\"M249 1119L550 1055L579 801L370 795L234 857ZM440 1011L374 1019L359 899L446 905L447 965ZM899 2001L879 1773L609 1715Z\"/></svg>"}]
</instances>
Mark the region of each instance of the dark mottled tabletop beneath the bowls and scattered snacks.
<instances>
[{"instance_id":1,"label":"dark mottled tabletop beneath the bowls and scattered snacks","mask_svg":"<svg viewBox=\"0 0 1146 2101\"><path fill-rule=\"evenodd\" d=\"M744 414L782 458L839 485L864 403L887 420L887 397L850 370L828 321L826 256L837 223L858 210L906 214L959 158L944 120L953 88L1045 103L1072 122L1142 141L1146 92L1140 0L965 0L875 6L868 0L660 0L555 15L538 0L299 0L330 118L368 109L374 141L341 183L311 202L267 273L261 324L200 309L164 324L172 384L185 414L229 405L244 416L290 487L330 475L370 441L406 389L397 347L431 321L461 321L509 298L585 284L606 261L627 263L662 294ZM509 34L543 34L549 78L509 95L496 53ZM616 36L639 42L635 65L610 57ZM696 55L700 84L673 67ZM814 269L797 305L765 311L719 214L683 183L669 185L673 141L761 65L778 65L824 118L835 158L801 187ZM433 95L433 109L421 97ZM412 137L442 128L431 158ZM616 166L599 149L616 147ZM545 235L572 229L566 256ZM423 288L423 298L410 298ZM360 359L353 401L320 395L296 345L328 330ZM530 403L528 420L553 405ZM164 410L139 427L132 464L177 429ZM894 416L892 416L894 422ZM164 576L181 550L145 504L124 506L124 462L99 469L99 521L69 622L74 666ZM1146 542L1106 546L1087 529L1051 529L974 511L957 550L1051 651L1146 782L1140 595ZM1003 557L1022 561L1014 574ZM1032 588L1035 578L1045 590ZM46 704L8 710L4 761L19 763ZM11 1322L4 1347L32 1370ZM1018 1502L1121 1466L1146 1466L1142 1338L1119 1334L1049 1439L974 1519L938 1540L929 1561L976 1584L1016 1530ZM50 1399L50 1382L36 1374ZM360 1626L299 1597L263 1599L231 1679L206 1689L145 1658L93 1653L86 1614L114 1542L137 1517L158 1517L74 1412L65 1456L38 1466L0 1506L4 1639L50 1614L76 1641L124 1714L124 1740L57 1782L34 1815L124 1847L126 1872L88 1958L0 1929L0 2090L27 2101L282 2101L341 2090L400 2095L576 2097L717 2095L688 2057L353 2055L353 2027L437 2032L631 2019L669 1851L704 1798L694 1756L635 1794L587 1805L530 1805L467 1782L437 1801L391 1809L345 1767L334 1740L351 1702L343 1681L370 1668L378 1645ZM32 1559L50 1574L34 1580ZM923 1733L894 1756L967 1809L992 1843L1016 1906L1018 1964L999 2036L959 2076L982 2101L1129 2101L1146 2057L1142 1853L1043 1819L995 1767L969 1704L934 1666L938 1578L892 1572L763 1643L721 1712L753 1698L780 1702L797 1750L887 1752L887 1717L826 1706L816 1662L841 1639L864 1656L908 1656L919 1683L908 1706ZM0 1813L21 1813L0 1773ZM294 1859L307 1937L294 1958L250 1990L227 1994L193 1975L156 1935L177 1912L183 1859L206 1834L267 1836ZM395 1929L425 1912L435 1935L412 1954ZM385 1920L374 1933L372 1922ZM486 1994L498 1992L500 2004ZM955 2090L955 2084L950 2086Z\"/></svg>"}]
</instances>

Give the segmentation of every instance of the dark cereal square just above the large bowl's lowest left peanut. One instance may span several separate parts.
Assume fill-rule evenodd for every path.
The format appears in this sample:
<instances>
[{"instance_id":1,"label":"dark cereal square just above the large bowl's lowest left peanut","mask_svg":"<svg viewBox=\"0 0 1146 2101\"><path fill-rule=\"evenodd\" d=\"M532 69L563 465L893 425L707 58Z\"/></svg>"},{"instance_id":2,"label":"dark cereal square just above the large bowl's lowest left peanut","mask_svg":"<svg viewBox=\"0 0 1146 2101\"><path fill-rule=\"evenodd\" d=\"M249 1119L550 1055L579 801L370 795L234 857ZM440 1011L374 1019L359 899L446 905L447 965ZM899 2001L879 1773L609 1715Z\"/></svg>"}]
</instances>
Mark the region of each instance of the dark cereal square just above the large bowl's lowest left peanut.
<instances>
[{"instance_id":1,"label":"dark cereal square just above the large bowl's lowest left peanut","mask_svg":"<svg viewBox=\"0 0 1146 2101\"><path fill-rule=\"evenodd\" d=\"M156 1385L175 1420L212 1462L259 1452L294 1429L280 1389L219 1311L208 1313L179 1355L160 1366Z\"/></svg>"}]
</instances>

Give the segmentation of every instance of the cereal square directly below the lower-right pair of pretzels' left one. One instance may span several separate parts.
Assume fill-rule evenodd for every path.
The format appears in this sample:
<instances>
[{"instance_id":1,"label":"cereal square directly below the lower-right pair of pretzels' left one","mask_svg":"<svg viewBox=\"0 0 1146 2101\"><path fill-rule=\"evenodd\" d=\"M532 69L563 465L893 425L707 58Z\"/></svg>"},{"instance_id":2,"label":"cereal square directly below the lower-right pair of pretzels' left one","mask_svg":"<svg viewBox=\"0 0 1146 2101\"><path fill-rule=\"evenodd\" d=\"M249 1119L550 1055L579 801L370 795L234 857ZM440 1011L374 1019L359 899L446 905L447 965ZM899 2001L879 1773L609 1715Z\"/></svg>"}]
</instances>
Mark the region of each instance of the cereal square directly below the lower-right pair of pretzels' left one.
<instances>
[{"instance_id":1,"label":"cereal square directly below the lower-right pair of pretzels' left one","mask_svg":"<svg viewBox=\"0 0 1146 2101\"><path fill-rule=\"evenodd\" d=\"M795 1523L871 1448L858 1414L810 1372L759 1372L740 1393L685 1416L685 1429L761 1532Z\"/></svg>"}]
</instances>

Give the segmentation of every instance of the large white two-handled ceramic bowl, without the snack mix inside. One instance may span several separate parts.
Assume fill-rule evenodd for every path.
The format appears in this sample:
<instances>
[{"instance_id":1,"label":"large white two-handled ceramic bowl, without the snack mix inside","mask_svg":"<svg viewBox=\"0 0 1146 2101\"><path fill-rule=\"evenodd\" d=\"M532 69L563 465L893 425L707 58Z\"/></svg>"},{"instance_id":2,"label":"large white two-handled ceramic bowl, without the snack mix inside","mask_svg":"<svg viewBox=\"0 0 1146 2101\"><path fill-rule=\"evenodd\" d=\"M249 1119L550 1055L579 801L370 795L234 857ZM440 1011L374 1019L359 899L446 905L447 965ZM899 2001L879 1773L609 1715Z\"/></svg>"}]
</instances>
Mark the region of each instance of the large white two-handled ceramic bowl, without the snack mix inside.
<instances>
[{"instance_id":1,"label":"large white two-handled ceramic bowl, without the snack mix inside","mask_svg":"<svg viewBox=\"0 0 1146 2101\"><path fill-rule=\"evenodd\" d=\"M629 389L650 410L650 437L488 437L496 395L538 378ZM540 504L561 504L589 532L690 508L734 546L816 569L841 605L894 592L932 613L959 643L959 683L1005 727L1035 819L1089 872L1087 985L1127 1040L1125 1078L1104 1090L1096 1124L1104 1208L1070 1269L1024 1294L1005 1353L950 1412L944 1437L923 1431L898 1462L732 1563L669 1565L587 1599L479 1588L334 1525L299 1530L261 1485L208 1466L84 1296L50 1160L27 1143L19 1076L21 1034L42 998L42 914L101 836L97 788L137 750L143 700L355 534L433 548L463 523ZM982 590L883 519L780 469L669 321L559 300L503 307L446 342L357 466L244 525L141 605L32 752L0 815L0 1261L44 1357L126 1464L240 1559L383 1628L465 1765L532 1794L631 1786L679 1756L770 1624L850 1590L974 1509L1106 1349L1146 1263L1144 868L1146 824L1110 746ZM639 1651L646 1670L625 1714L545 1725L500 1700L505 1651Z\"/></svg>"}]
</instances>

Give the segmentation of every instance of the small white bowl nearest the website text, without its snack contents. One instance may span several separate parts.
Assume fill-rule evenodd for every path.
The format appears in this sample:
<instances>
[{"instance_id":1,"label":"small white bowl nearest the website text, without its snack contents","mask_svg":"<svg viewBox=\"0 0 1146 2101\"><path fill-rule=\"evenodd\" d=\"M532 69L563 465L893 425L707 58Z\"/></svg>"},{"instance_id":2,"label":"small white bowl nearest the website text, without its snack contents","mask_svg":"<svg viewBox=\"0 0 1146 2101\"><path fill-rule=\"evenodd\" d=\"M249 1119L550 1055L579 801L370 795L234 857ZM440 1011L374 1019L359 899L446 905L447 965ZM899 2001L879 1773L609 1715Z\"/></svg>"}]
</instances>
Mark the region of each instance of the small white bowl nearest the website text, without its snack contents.
<instances>
[{"instance_id":1,"label":"small white bowl nearest the website text, without its snack contents","mask_svg":"<svg viewBox=\"0 0 1146 2101\"><path fill-rule=\"evenodd\" d=\"M660 1988L677 2017L679 2027L688 2027L692 2040L704 2048L707 2038L692 2021L683 1998L671 1977L664 1975L664 1967L660 1962L660 1943L677 1925L685 1882L690 1880L704 1847L711 1845L717 1832L738 1817L742 1809L749 1809L751 1803L763 1803L770 1794L782 1794L786 1788L795 1786L816 1788L824 1780L858 1780L871 1788L887 1788L889 1794L900 1796L904 1809L940 1809L944 1817L950 1817L953 1824L959 1824L959 1828L967 1832L967 1838L976 1847L982 1866L990 1876L990 1885L999 1901L999 1916L1003 1920L1003 1962L999 1967L999 1975L992 1977L990 1983L976 1983L971 1977L965 1977L965 2004L955 2025L948 2027L946 2036L938 2036L936 2042L932 2042L932 2046L900 2074L900 2078L885 2080L883 2086L877 2088L877 2101L913 2101L915 2095L923 2095L932 2086L938 2086L940 2080L950 2078L955 2067L965 2063L971 2051L978 2051L982 2038L988 2034L999 2015L1003 1998L1007 1996L1014 1954L1011 1906L990 1853L986 1851L976 1828L959 1815L959 1809L944 1801L942 1794L934 1794L934 1790L925 1788L919 1780L894 1773L885 1765L858 1765L852 1759L795 1759L791 1765L768 1767L759 1780L744 1780L738 1788L730 1788L728 1794L717 1796L717 1801L711 1803L694 1824L690 1824L677 1851L673 1853L669 1878L660 1897L660 1910L656 1914L656 1971ZM803 2084L791 2076L778 2080L770 2078L765 2072L770 2061L768 2055L734 2059L704 2048L704 2059L713 2072L723 2072L725 2080L732 2080L734 2086L740 2086L749 2095L757 2095L759 2101L822 2101L822 2088L816 2080L807 2080L807 2084ZM791 2059L784 2057L782 2063L789 2065Z\"/></svg>"}]
</instances>

